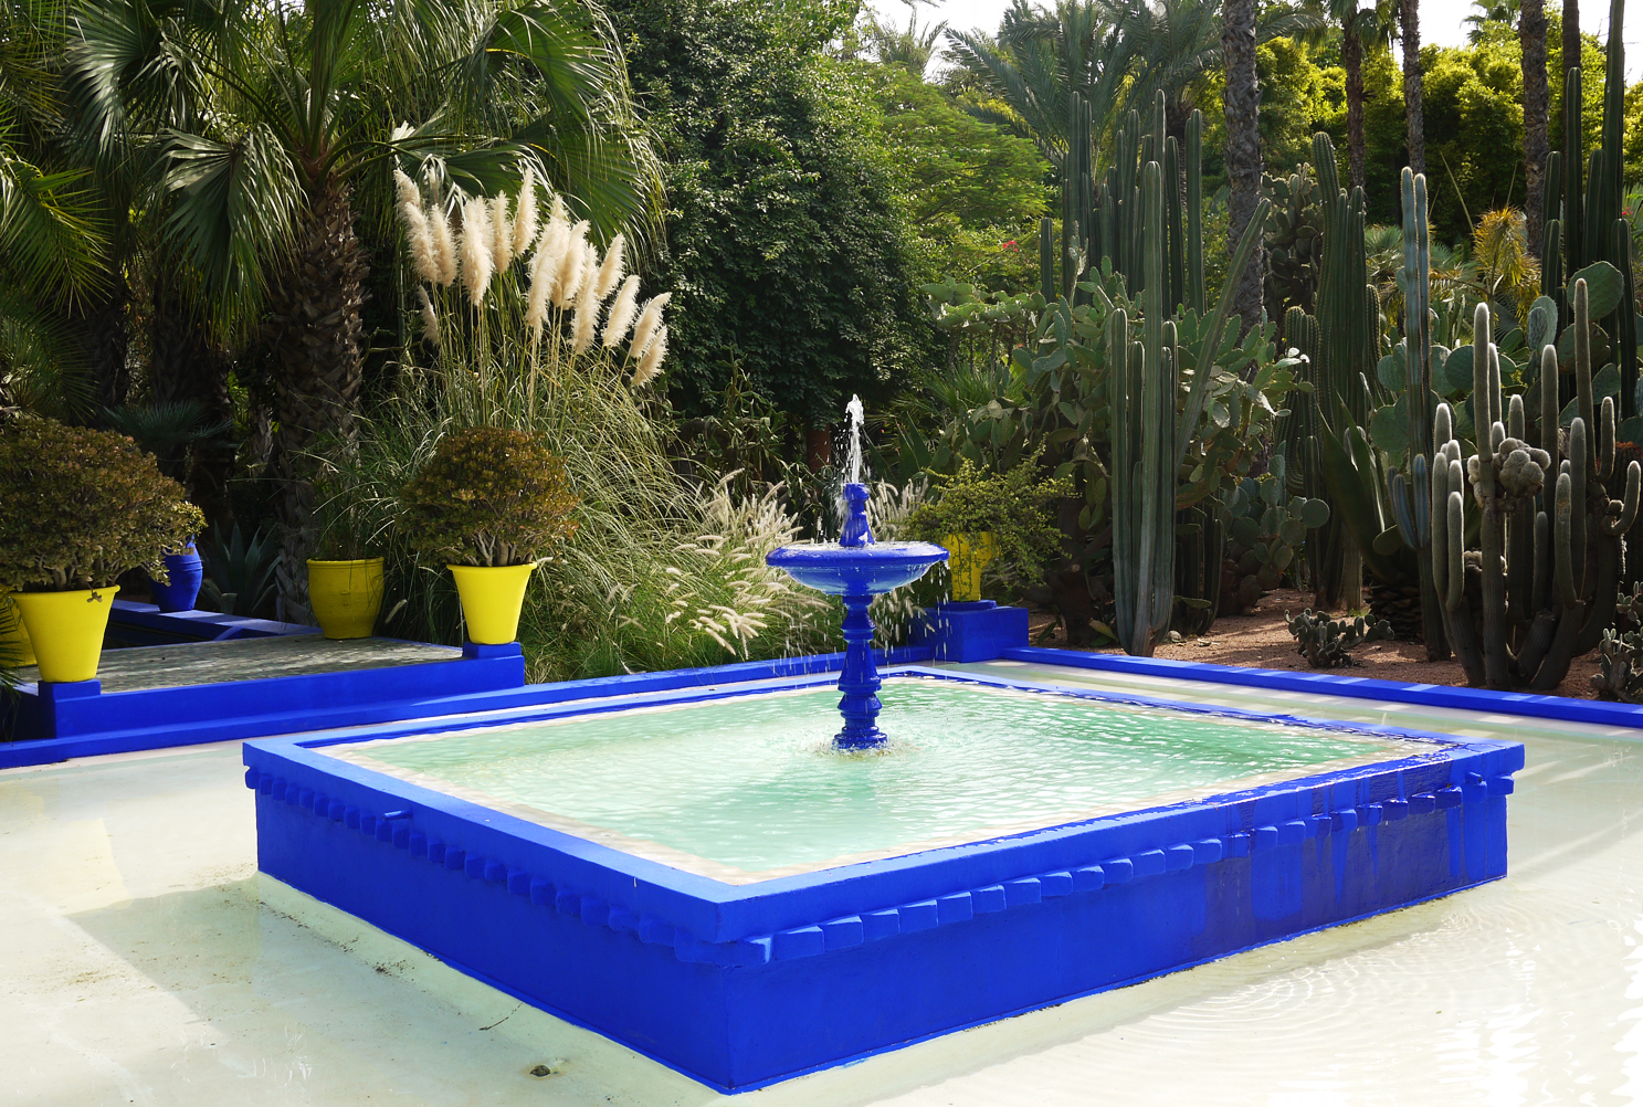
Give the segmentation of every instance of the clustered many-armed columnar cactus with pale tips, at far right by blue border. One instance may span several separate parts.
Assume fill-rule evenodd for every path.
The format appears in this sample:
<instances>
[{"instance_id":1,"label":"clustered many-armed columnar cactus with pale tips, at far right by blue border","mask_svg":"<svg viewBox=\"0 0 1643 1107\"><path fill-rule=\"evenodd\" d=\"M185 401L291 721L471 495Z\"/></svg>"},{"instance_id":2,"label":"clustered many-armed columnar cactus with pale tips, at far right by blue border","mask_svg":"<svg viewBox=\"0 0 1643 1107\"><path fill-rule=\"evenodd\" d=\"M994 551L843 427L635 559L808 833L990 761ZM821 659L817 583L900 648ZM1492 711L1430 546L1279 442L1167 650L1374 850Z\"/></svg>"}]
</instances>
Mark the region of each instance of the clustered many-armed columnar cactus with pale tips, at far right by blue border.
<instances>
[{"instance_id":1,"label":"clustered many-armed columnar cactus with pale tips, at far right by blue border","mask_svg":"<svg viewBox=\"0 0 1643 1107\"><path fill-rule=\"evenodd\" d=\"M1559 432L1558 350L1541 348L1539 445L1528 442L1521 396L1502 404L1490 315L1477 307L1472 419L1477 450L1462 465L1454 412L1433 419L1431 570L1449 644L1472 685L1556 688L1592 650L1615 609L1622 537L1638 514L1643 470L1627 466L1625 496L1604 485L1615 468L1615 404L1592 402L1585 281L1574 292L1576 416ZM1589 429L1595 427L1595 434ZM1466 549L1466 489L1479 549Z\"/></svg>"}]
</instances>

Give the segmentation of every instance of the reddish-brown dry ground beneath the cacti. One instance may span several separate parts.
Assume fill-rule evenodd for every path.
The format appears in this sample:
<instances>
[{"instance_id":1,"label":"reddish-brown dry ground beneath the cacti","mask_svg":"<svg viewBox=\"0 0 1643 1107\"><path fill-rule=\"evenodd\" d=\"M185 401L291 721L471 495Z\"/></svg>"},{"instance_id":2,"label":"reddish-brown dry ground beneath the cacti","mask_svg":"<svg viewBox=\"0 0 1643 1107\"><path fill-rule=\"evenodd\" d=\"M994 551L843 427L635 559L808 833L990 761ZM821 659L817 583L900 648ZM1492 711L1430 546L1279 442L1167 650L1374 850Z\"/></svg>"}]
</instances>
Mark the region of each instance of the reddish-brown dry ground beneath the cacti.
<instances>
[{"instance_id":1,"label":"reddish-brown dry ground beneath the cacti","mask_svg":"<svg viewBox=\"0 0 1643 1107\"><path fill-rule=\"evenodd\" d=\"M1199 639L1188 637L1180 644L1158 647L1157 657L1171 660L1211 662L1214 665L1244 665L1250 668L1306 668L1306 659L1295 650L1295 639L1283 622L1283 613L1298 613L1309 608L1311 593L1306 591L1273 591L1250 614L1224 616L1216 619L1209 634ZM1048 614L1033 614L1032 641L1037 645L1066 647L1066 639L1058 632L1055 637L1038 641L1040 632L1052 622ZM1104 647L1096 652L1117 654L1116 647ZM1369 642L1352 650L1359 665L1339 670L1354 677L1374 677L1377 680L1405 680L1410 683L1431 685L1464 685L1466 673L1456 660L1429 662L1426 647L1420 642ZM1569 675L1558 685L1556 695L1590 700L1592 673L1597 672L1597 654L1577 657L1569 667Z\"/></svg>"}]
</instances>

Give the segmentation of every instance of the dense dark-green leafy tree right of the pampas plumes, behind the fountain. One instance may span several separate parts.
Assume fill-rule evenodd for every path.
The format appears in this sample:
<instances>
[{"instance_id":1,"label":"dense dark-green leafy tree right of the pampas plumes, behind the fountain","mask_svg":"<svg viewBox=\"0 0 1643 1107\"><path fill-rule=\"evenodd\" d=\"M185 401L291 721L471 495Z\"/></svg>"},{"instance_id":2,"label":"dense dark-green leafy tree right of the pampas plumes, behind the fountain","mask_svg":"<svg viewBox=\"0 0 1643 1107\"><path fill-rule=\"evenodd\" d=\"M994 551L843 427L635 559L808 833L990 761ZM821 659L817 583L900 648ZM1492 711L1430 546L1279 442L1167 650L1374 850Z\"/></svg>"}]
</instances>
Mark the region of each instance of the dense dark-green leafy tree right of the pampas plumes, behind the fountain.
<instances>
[{"instance_id":1,"label":"dense dark-green leafy tree right of the pampas plumes, behind the fountain","mask_svg":"<svg viewBox=\"0 0 1643 1107\"><path fill-rule=\"evenodd\" d=\"M897 168L863 69L823 46L851 11L614 0L665 164L657 276L674 292L675 401L739 368L784 411L836 422L925 360Z\"/></svg>"}]
</instances>

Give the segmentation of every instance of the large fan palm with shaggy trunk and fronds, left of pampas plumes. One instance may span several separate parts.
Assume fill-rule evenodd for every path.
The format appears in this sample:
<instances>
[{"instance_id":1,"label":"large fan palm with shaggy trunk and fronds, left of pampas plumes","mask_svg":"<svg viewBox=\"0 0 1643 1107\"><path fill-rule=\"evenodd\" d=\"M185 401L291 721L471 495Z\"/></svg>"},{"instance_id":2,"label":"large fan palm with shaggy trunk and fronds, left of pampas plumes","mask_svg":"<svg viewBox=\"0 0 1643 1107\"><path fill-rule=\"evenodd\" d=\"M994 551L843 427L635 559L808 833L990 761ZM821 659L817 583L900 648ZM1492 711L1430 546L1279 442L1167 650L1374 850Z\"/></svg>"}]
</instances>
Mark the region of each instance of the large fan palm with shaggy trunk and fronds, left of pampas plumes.
<instances>
[{"instance_id":1,"label":"large fan palm with shaggy trunk and fronds, left of pampas plumes","mask_svg":"<svg viewBox=\"0 0 1643 1107\"><path fill-rule=\"evenodd\" d=\"M281 596L296 614L312 478L357 432L368 274L357 192L399 163L478 194L534 164L613 228L654 214L657 174L614 36L580 5L225 7L251 49L207 59L197 125L154 136L163 251L215 333L256 330L271 353ZM85 23L85 56L141 53L125 0L94 8L107 18ZM113 118L123 105L104 76L107 94L89 102Z\"/></svg>"}]
</instances>

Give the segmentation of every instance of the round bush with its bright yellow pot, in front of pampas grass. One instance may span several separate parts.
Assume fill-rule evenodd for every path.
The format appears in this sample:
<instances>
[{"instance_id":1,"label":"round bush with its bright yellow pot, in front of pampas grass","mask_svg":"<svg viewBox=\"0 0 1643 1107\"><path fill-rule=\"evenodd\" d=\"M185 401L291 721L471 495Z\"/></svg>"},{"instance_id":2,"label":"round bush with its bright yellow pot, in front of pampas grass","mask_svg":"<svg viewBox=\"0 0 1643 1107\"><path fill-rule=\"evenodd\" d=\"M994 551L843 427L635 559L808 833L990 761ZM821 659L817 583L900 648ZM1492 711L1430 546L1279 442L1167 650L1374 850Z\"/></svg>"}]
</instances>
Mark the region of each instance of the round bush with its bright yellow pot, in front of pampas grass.
<instances>
[{"instance_id":1,"label":"round bush with its bright yellow pot, in front of pampas grass","mask_svg":"<svg viewBox=\"0 0 1643 1107\"><path fill-rule=\"evenodd\" d=\"M577 498L565 463L522 430L445 435L401 494L401 531L457 580L468 641L513 642L531 570L568 539Z\"/></svg>"}]
</instances>

